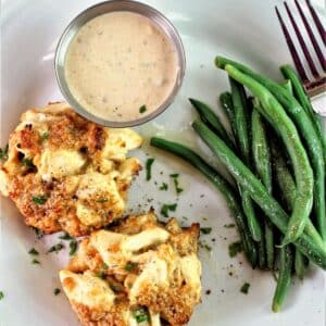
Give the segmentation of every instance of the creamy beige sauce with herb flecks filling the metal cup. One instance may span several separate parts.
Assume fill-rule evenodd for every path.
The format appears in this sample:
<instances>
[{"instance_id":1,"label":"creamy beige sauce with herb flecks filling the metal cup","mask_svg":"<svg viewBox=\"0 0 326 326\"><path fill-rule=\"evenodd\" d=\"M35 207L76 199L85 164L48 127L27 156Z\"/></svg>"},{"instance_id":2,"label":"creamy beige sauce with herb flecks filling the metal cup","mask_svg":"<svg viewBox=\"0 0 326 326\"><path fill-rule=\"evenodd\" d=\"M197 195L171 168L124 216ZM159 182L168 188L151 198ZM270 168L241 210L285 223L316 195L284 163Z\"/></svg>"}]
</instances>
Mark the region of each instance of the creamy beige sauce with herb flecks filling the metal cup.
<instances>
[{"instance_id":1,"label":"creamy beige sauce with herb flecks filling the metal cup","mask_svg":"<svg viewBox=\"0 0 326 326\"><path fill-rule=\"evenodd\" d=\"M148 17L112 12L86 23L65 59L70 91L90 113L125 122L150 114L172 92L175 48Z\"/></svg>"}]
</instances>

